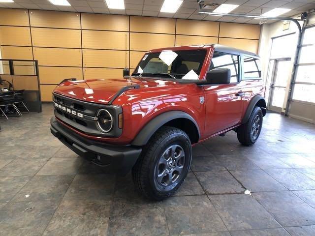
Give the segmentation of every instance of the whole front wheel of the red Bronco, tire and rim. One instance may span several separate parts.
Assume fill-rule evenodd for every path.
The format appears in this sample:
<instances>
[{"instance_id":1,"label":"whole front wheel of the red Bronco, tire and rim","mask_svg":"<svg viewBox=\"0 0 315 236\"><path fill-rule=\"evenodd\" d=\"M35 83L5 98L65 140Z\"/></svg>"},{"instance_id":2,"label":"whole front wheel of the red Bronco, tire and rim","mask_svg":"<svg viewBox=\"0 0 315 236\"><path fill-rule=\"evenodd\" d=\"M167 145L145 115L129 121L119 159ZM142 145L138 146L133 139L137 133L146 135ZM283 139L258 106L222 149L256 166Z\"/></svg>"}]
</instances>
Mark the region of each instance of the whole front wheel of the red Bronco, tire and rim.
<instances>
[{"instance_id":1,"label":"whole front wheel of the red Bronco, tire and rim","mask_svg":"<svg viewBox=\"0 0 315 236\"><path fill-rule=\"evenodd\" d=\"M177 128L163 126L143 147L132 168L133 181L147 198L162 200L181 186L191 163L188 135Z\"/></svg>"}]
</instances>

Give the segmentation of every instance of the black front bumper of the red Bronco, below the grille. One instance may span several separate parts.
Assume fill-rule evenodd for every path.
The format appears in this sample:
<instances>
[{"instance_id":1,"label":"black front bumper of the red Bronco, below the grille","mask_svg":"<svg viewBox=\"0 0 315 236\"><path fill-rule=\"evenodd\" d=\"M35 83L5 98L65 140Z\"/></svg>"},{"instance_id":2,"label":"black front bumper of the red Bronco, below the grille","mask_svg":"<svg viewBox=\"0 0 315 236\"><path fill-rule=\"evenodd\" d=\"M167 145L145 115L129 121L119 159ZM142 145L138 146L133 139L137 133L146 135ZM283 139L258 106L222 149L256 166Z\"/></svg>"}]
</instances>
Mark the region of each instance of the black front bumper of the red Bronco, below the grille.
<instances>
[{"instance_id":1,"label":"black front bumper of the red Bronco, below the grille","mask_svg":"<svg viewBox=\"0 0 315 236\"><path fill-rule=\"evenodd\" d=\"M102 166L104 170L126 175L141 153L141 148L134 146L112 146L95 142L79 136L59 123L55 117L50 120L50 131L65 146L79 156Z\"/></svg>"}]
</instances>

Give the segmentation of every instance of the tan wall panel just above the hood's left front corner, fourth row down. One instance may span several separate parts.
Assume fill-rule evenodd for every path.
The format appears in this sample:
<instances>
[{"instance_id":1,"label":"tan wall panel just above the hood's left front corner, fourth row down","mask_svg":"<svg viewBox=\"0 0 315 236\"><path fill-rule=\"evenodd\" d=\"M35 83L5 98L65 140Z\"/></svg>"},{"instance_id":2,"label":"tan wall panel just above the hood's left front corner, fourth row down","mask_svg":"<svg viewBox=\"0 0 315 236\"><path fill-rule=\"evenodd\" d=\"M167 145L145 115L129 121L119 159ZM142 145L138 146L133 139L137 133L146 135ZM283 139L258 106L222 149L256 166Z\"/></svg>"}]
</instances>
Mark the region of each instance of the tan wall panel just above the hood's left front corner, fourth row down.
<instances>
[{"instance_id":1,"label":"tan wall panel just above the hood's left front corner, fourth row down","mask_svg":"<svg viewBox=\"0 0 315 236\"><path fill-rule=\"evenodd\" d=\"M48 67L39 66L39 80L41 84L59 84L63 79L76 78L82 80L80 67Z\"/></svg>"}]
</instances>

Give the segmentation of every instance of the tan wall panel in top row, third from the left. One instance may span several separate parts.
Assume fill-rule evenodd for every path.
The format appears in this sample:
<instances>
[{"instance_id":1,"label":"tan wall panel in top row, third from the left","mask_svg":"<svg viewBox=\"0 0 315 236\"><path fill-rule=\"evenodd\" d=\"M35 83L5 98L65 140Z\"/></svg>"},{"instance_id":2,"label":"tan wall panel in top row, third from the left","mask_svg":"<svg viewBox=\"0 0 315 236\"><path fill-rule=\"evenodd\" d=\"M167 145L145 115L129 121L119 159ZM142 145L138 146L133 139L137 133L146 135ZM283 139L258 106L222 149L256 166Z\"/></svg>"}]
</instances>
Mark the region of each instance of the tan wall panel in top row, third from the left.
<instances>
[{"instance_id":1,"label":"tan wall panel in top row, third from the left","mask_svg":"<svg viewBox=\"0 0 315 236\"><path fill-rule=\"evenodd\" d=\"M129 30L128 16L81 13L81 19L82 29Z\"/></svg>"}]
</instances>

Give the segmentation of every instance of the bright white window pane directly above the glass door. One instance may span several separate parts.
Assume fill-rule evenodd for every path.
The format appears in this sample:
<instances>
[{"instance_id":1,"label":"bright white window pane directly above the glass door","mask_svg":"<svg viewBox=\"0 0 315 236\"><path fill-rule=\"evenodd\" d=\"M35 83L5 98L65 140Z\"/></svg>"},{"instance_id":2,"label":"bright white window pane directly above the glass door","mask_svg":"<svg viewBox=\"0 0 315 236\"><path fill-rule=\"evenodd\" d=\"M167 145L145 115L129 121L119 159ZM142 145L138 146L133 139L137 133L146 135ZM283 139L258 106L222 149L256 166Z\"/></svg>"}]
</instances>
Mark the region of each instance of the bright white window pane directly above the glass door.
<instances>
[{"instance_id":1,"label":"bright white window pane directly above the glass door","mask_svg":"<svg viewBox=\"0 0 315 236\"><path fill-rule=\"evenodd\" d=\"M276 58L290 58L292 57L296 48L297 35L290 34L272 40L271 59Z\"/></svg>"}]
</instances>

